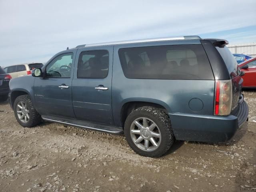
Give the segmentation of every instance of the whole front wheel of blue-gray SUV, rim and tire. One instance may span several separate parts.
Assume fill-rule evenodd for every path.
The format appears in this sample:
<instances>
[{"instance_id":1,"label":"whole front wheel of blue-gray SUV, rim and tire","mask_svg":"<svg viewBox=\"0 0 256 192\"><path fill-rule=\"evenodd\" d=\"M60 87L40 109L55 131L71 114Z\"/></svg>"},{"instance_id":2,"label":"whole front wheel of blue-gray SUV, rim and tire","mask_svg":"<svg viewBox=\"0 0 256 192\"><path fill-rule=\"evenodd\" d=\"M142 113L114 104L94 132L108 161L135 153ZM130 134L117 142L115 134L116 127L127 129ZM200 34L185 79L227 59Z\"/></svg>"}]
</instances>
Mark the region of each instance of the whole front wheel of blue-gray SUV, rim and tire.
<instances>
[{"instance_id":1,"label":"whole front wheel of blue-gray SUV, rim and tire","mask_svg":"<svg viewBox=\"0 0 256 192\"><path fill-rule=\"evenodd\" d=\"M28 95L21 95L14 101L14 114L23 127L33 127L42 122L40 114L34 108Z\"/></svg>"}]
</instances>

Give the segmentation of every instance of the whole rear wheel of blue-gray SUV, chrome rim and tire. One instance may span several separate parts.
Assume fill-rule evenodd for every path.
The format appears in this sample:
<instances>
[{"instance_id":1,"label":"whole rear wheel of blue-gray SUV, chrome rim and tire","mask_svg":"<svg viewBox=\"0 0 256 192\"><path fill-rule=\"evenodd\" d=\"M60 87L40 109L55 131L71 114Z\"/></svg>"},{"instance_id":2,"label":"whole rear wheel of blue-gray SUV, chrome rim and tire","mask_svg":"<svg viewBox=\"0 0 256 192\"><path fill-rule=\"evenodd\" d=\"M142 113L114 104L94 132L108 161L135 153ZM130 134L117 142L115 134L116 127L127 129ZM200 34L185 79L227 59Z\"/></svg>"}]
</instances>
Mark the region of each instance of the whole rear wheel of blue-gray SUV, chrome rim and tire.
<instances>
[{"instance_id":1,"label":"whole rear wheel of blue-gray SUV, chrome rim and tire","mask_svg":"<svg viewBox=\"0 0 256 192\"><path fill-rule=\"evenodd\" d=\"M129 114L124 134L129 146L137 154L147 157L164 155L174 142L170 118L164 111L151 106Z\"/></svg>"}]
</instances>

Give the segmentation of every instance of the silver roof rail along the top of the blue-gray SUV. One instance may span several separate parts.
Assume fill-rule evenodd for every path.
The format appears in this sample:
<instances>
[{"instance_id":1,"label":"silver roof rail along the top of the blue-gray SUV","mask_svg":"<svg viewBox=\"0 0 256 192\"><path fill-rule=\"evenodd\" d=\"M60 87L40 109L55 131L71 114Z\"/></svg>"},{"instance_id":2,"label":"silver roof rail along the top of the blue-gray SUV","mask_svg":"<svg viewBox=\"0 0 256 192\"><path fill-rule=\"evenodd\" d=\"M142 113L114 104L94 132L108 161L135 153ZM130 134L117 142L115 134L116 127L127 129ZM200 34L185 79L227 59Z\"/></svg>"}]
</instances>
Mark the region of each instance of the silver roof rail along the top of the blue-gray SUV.
<instances>
[{"instance_id":1,"label":"silver roof rail along the top of the blue-gray SUV","mask_svg":"<svg viewBox=\"0 0 256 192\"><path fill-rule=\"evenodd\" d=\"M138 40L83 44L83 45L76 46L76 48L92 47L92 46L104 46L104 45L116 45L116 44L128 44L128 43L154 42L154 41L192 40L192 39L201 39L201 38L199 36L178 36L178 37L150 38L150 39L138 39Z\"/></svg>"}]
</instances>

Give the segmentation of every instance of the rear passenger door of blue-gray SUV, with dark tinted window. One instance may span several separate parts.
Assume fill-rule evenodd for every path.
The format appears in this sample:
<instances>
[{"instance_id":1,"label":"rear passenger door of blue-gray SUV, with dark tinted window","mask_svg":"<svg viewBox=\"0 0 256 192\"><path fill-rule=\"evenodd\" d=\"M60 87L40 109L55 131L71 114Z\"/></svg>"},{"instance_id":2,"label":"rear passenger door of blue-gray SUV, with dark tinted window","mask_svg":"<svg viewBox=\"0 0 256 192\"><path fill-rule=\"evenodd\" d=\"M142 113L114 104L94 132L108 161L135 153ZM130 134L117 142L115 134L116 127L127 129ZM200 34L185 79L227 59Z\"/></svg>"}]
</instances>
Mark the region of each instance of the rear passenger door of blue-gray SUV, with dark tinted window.
<instances>
[{"instance_id":1,"label":"rear passenger door of blue-gray SUV, with dark tinted window","mask_svg":"<svg viewBox=\"0 0 256 192\"><path fill-rule=\"evenodd\" d=\"M77 119L113 124L111 82L113 46L79 49L72 82Z\"/></svg>"}]
</instances>

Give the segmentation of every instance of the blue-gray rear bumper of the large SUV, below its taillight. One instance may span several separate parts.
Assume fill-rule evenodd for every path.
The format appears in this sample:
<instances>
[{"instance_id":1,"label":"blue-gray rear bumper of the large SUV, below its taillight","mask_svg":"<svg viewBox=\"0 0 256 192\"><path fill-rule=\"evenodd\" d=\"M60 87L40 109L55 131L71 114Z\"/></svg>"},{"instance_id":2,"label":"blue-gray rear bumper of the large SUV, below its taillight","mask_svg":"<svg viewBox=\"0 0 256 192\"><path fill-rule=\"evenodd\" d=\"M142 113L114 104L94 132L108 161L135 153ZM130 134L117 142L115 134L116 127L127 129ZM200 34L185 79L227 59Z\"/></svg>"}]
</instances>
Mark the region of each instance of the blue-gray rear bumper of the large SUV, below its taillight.
<instances>
[{"instance_id":1,"label":"blue-gray rear bumper of the large SUV, below its taillight","mask_svg":"<svg viewBox=\"0 0 256 192\"><path fill-rule=\"evenodd\" d=\"M242 101L228 116L169 113L177 140L225 142L248 120L248 105Z\"/></svg>"}]
</instances>

